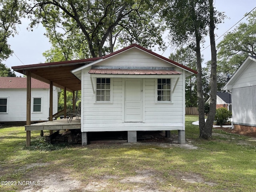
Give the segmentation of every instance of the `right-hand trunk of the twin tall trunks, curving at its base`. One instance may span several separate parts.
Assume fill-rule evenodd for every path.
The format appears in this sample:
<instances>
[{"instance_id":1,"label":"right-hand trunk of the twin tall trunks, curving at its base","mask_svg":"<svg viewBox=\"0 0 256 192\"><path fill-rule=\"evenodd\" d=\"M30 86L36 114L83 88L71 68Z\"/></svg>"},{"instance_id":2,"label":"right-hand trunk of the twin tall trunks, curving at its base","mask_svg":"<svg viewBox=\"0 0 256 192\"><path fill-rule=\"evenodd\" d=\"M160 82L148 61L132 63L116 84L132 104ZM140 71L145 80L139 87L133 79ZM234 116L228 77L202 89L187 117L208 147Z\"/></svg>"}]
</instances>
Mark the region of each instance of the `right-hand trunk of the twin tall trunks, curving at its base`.
<instances>
[{"instance_id":1,"label":"right-hand trunk of the twin tall trunks, curving at its base","mask_svg":"<svg viewBox=\"0 0 256 192\"><path fill-rule=\"evenodd\" d=\"M217 94L217 52L214 38L214 7L213 0L209 0L209 11L210 11L210 23L209 23L209 34L210 34L210 44L211 44L211 75L210 75L210 109L208 113L208 118L204 130L200 133L200 137L209 139L212 137L212 125L214 122L214 117L216 113L216 94Z\"/></svg>"}]
</instances>

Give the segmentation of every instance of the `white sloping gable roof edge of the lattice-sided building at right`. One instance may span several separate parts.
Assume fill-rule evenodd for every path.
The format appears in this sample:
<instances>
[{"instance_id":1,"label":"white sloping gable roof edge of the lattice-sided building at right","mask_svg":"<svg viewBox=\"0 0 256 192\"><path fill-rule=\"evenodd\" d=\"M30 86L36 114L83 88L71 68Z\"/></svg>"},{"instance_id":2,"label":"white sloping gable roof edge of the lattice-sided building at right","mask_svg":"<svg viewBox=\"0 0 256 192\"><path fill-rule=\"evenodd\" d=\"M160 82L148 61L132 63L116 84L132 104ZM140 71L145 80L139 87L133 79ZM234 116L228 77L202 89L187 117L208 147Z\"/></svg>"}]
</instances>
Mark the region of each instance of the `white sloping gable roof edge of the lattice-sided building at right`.
<instances>
[{"instance_id":1,"label":"white sloping gable roof edge of the lattice-sided building at right","mask_svg":"<svg viewBox=\"0 0 256 192\"><path fill-rule=\"evenodd\" d=\"M256 56L248 56L236 70L236 72L232 75L232 77L228 80L228 82L224 85L222 90L232 90L233 85L239 80L239 78L244 74L248 66L251 64L256 64ZM252 74L252 76L253 75L254 74ZM252 86L252 84L248 84L247 86Z\"/></svg>"}]
</instances>

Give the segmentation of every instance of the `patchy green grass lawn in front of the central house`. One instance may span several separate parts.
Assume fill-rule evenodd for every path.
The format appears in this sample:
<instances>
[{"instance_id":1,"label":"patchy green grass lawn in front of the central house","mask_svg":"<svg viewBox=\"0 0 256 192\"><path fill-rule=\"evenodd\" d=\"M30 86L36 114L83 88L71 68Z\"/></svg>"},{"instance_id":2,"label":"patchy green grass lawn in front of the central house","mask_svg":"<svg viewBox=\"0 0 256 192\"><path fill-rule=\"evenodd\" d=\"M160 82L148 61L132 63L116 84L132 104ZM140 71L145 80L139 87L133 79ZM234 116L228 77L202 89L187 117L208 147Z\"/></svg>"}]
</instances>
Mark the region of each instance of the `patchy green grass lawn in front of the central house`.
<instances>
[{"instance_id":1,"label":"patchy green grass lawn in front of the central house","mask_svg":"<svg viewBox=\"0 0 256 192\"><path fill-rule=\"evenodd\" d=\"M186 140L196 150L155 143L52 146L42 142L39 131L31 132L32 146L26 148L24 127L0 128L0 181L63 173L81 183L71 190L77 192L93 191L86 187L95 183L102 184L96 190L102 192L256 191L256 141L214 129L211 140L199 139L199 127L192 125L196 120L198 116L186 116ZM145 175L148 182L132 182ZM192 178L200 179L191 182ZM5 192L22 189L21 185L0 185Z\"/></svg>"}]
</instances>

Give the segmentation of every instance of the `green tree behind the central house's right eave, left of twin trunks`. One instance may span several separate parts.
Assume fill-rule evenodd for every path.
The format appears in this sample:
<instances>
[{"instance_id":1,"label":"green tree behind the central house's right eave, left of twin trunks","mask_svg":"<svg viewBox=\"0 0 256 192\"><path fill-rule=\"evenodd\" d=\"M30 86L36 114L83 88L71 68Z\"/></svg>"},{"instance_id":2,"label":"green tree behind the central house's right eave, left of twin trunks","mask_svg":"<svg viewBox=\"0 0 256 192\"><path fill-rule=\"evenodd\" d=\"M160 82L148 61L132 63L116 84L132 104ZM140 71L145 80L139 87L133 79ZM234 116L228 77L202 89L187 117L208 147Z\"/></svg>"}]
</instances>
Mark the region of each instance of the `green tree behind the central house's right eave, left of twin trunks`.
<instances>
[{"instance_id":1,"label":"green tree behind the central house's right eave, left of twin trunks","mask_svg":"<svg viewBox=\"0 0 256 192\"><path fill-rule=\"evenodd\" d=\"M171 53L169 58L196 70L196 52L191 47L179 48L176 53ZM185 86L186 107L197 107L196 76L186 78Z\"/></svg>"}]
</instances>

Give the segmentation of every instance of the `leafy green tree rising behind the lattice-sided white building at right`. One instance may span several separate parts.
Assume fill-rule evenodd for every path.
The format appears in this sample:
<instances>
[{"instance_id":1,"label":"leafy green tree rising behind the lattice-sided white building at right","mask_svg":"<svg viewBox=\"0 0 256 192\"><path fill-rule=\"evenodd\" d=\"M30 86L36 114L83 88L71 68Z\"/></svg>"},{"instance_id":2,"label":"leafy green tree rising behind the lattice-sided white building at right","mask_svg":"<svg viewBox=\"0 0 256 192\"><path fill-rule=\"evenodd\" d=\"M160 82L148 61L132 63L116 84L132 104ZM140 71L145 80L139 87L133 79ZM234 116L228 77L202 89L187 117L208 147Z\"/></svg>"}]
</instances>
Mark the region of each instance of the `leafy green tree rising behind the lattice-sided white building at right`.
<instances>
[{"instance_id":1,"label":"leafy green tree rising behind the lattice-sided white building at right","mask_svg":"<svg viewBox=\"0 0 256 192\"><path fill-rule=\"evenodd\" d=\"M248 14L247 20L218 44L219 72L234 74L248 55L256 56L256 10Z\"/></svg>"}]
</instances>

